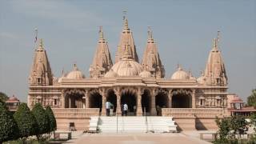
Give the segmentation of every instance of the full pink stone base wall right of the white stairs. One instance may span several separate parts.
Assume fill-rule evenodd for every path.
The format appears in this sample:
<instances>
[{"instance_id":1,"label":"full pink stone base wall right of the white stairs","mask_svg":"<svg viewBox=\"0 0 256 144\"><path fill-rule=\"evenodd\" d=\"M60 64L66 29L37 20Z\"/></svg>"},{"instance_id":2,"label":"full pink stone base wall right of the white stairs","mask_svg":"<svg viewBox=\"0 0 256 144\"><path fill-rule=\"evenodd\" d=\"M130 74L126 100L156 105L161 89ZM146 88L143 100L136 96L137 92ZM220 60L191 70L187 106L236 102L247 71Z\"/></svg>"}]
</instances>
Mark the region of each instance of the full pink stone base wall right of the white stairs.
<instances>
[{"instance_id":1,"label":"full pink stone base wall right of the white stairs","mask_svg":"<svg viewBox=\"0 0 256 144\"><path fill-rule=\"evenodd\" d=\"M162 116L172 116L179 130L218 130L215 118L227 116L221 108L162 108Z\"/></svg>"}]
</instances>

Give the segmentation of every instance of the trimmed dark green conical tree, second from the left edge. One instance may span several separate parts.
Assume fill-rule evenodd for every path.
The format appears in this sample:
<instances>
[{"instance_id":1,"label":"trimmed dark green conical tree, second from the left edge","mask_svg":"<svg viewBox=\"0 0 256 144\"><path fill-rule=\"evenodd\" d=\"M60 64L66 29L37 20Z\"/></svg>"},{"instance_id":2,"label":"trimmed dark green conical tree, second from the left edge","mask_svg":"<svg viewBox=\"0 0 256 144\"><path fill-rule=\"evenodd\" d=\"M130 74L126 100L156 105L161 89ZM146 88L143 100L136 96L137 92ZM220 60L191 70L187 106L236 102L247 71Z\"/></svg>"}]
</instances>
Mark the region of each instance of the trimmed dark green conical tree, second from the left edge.
<instances>
[{"instance_id":1,"label":"trimmed dark green conical tree, second from the left edge","mask_svg":"<svg viewBox=\"0 0 256 144\"><path fill-rule=\"evenodd\" d=\"M18 131L21 138L35 135L38 130L38 124L26 103L18 106L18 110L14 113L14 119L18 124Z\"/></svg>"}]
</instances>

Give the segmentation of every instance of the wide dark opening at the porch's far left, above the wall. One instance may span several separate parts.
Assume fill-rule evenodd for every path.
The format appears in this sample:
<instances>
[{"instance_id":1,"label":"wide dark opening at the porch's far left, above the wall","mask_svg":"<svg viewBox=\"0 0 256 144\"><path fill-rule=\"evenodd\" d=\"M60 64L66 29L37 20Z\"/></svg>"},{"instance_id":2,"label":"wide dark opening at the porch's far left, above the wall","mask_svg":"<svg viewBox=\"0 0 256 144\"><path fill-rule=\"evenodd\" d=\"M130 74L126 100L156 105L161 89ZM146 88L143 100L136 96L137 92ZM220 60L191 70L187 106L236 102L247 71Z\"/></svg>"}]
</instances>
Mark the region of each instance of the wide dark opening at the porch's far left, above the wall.
<instances>
[{"instance_id":1,"label":"wide dark opening at the porch's far left, above the wall","mask_svg":"<svg viewBox=\"0 0 256 144\"><path fill-rule=\"evenodd\" d=\"M83 108L83 94L72 93L65 96L65 108Z\"/></svg>"}]
</instances>

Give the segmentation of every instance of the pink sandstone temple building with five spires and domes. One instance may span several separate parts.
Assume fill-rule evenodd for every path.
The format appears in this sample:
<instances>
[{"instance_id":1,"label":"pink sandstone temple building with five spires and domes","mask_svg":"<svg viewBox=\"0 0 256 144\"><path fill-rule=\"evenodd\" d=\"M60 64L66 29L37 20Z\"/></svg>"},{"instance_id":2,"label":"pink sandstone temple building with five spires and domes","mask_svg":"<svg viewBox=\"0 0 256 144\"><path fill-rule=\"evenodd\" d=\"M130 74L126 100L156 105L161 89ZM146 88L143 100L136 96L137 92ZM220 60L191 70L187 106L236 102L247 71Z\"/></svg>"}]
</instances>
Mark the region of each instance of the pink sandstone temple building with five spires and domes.
<instances>
[{"instance_id":1,"label":"pink sandstone temple building with five spires and domes","mask_svg":"<svg viewBox=\"0 0 256 144\"><path fill-rule=\"evenodd\" d=\"M172 116L181 130L216 129L214 118L227 114L228 94L218 40L214 38L206 69L199 78L182 66L168 78L152 30L139 62L128 19L124 18L114 61L100 27L94 59L88 67L90 75L85 76L74 64L73 70L55 78L40 39L30 71L28 105L32 108L40 102L51 106L59 130L67 130L71 124L86 130L90 116L106 115L106 102L114 105L114 115L121 114L126 103L128 115Z\"/></svg>"}]
</instances>

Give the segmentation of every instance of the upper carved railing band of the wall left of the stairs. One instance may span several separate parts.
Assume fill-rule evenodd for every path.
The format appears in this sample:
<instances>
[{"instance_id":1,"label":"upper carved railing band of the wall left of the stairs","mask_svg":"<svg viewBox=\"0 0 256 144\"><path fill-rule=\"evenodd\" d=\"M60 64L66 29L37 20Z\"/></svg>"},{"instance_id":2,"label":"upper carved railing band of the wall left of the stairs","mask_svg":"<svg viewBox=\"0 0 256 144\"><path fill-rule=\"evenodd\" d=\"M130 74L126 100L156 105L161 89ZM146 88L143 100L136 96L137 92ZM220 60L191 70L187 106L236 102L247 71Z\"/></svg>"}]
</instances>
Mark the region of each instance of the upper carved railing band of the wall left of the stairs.
<instances>
[{"instance_id":1,"label":"upper carved railing band of the wall left of the stairs","mask_svg":"<svg viewBox=\"0 0 256 144\"><path fill-rule=\"evenodd\" d=\"M53 108L55 118L89 118L99 114L98 108Z\"/></svg>"}]
</instances>

